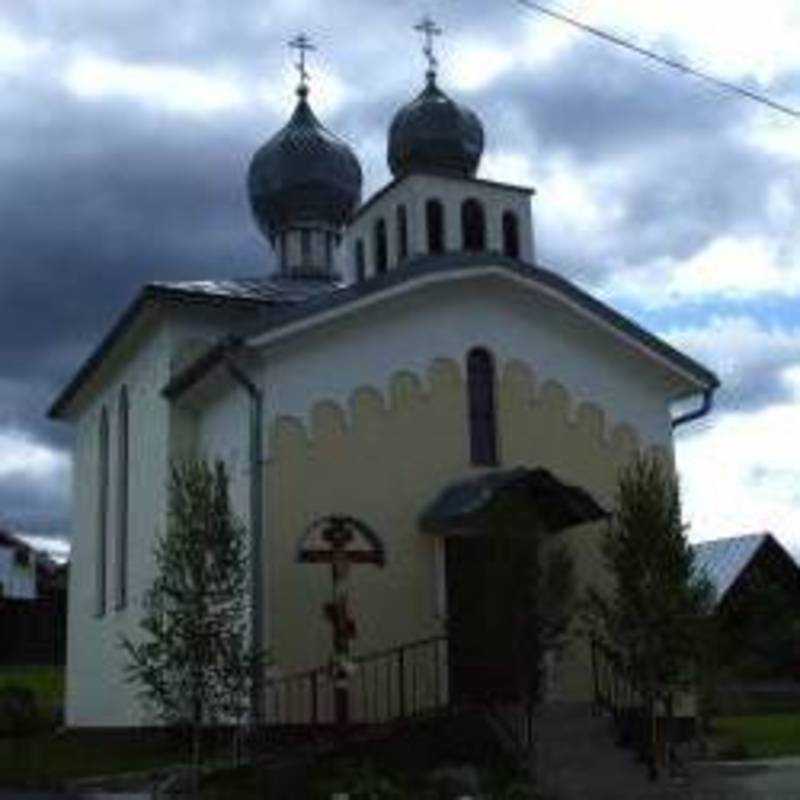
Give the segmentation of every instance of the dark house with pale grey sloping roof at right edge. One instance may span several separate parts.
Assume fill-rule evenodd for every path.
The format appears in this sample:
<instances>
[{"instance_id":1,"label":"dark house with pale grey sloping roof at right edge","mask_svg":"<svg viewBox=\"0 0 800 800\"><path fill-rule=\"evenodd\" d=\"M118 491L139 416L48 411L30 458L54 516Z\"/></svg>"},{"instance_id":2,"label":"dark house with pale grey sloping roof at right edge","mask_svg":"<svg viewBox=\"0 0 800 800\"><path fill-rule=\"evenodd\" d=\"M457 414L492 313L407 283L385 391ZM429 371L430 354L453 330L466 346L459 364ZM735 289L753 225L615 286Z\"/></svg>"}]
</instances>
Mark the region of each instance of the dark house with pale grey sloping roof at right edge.
<instances>
[{"instance_id":1,"label":"dark house with pale grey sloping roof at right edge","mask_svg":"<svg viewBox=\"0 0 800 800\"><path fill-rule=\"evenodd\" d=\"M800 566L771 533L694 545L714 589L720 664L742 679L800 677Z\"/></svg>"}]
</instances>

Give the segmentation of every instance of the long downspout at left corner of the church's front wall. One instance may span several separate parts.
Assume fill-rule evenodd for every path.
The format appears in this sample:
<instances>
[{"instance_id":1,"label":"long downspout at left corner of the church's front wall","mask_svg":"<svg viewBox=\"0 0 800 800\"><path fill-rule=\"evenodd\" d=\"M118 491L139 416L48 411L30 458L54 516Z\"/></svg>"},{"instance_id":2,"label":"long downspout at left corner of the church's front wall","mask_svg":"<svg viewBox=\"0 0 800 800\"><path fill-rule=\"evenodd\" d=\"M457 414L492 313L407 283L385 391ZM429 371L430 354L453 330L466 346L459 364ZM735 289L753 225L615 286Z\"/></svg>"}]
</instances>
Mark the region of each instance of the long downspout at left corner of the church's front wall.
<instances>
[{"instance_id":1,"label":"long downspout at left corner of the church's front wall","mask_svg":"<svg viewBox=\"0 0 800 800\"><path fill-rule=\"evenodd\" d=\"M250 626L253 650L264 650L264 603L263 603L263 547L264 504L261 443L264 440L263 392L242 371L236 362L225 355L225 364L230 376L242 386L250 397ZM254 725L260 725L264 711L263 665L257 663L252 675L250 692L250 714Z\"/></svg>"}]
</instances>

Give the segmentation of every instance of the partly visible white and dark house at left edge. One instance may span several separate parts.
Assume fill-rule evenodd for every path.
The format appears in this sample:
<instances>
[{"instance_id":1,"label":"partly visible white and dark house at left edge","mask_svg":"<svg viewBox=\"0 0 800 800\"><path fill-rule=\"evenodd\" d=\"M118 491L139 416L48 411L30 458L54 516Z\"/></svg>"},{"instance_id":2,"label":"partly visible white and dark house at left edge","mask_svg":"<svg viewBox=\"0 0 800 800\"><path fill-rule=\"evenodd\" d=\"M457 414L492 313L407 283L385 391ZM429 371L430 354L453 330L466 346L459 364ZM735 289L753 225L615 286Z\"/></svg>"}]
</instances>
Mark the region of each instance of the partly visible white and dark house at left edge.
<instances>
[{"instance_id":1,"label":"partly visible white and dark house at left edge","mask_svg":"<svg viewBox=\"0 0 800 800\"><path fill-rule=\"evenodd\" d=\"M0 664L63 664L67 567L0 530Z\"/></svg>"}]
</instances>

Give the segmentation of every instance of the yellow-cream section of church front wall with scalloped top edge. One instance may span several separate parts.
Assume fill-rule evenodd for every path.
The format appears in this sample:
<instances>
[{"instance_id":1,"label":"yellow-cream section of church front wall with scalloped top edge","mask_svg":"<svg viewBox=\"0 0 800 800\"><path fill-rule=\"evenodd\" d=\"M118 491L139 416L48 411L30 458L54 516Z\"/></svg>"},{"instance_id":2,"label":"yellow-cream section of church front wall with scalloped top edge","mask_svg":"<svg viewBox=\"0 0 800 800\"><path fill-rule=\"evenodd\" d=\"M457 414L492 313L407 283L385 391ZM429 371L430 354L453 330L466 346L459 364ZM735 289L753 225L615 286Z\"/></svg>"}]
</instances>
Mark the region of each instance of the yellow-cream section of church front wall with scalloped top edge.
<instances>
[{"instance_id":1,"label":"yellow-cream section of church front wall with scalloped top edge","mask_svg":"<svg viewBox=\"0 0 800 800\"><path fill-rule=\"evenodd\" d=\"M537 384L522 362L498 366L502 465L544 466L609 504L617 471L637 446L636 434L627 426L608 429L600 409L574 407L563 387ZM382 650L441 633L434 540L419 532L417 517L440 488L475 472L461 363L437 359L421 376L399 372L385 394L365 387L346 406L319 402L308 425L279 418L270 451L269 606L278 665L293 671L330 655L330 628L321 615L330 594L329 568L295 562L298 535L330 513L363 519L387 548L384 569L353 570L359 630L354 650ZM583 526L553 540L569 546L584 586L602 583L598 530ZM583 646L566 653L559 684L568 697L588 696Z\"/></svg>"}]
</instances>

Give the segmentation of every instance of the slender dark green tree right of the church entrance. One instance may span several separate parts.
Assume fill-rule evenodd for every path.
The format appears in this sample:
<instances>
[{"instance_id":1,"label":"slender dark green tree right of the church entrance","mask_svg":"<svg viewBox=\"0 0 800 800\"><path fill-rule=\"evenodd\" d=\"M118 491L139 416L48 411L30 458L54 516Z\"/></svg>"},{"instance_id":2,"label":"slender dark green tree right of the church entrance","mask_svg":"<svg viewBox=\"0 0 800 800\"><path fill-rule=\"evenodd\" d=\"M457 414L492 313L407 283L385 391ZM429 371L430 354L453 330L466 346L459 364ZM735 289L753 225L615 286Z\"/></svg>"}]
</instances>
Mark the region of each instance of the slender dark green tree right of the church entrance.
<instances>
[{"instance_id":1,"label":"slender dark green tree right of the church entrance","mask_svg":"<svg viewBox=\"0 0 800 800\"><path fill-rule=\"evenodd\" d=\"M713 597L694 569L677 477L659 457L637 455L621 471L602 551L612 587L589 590L589 630L652 704L696 677Z\"/></svg>"}]
</instances>

